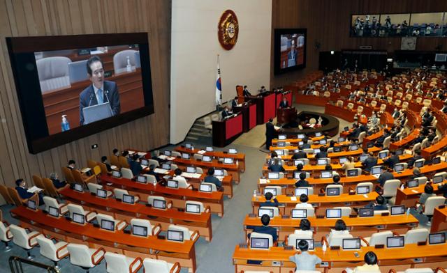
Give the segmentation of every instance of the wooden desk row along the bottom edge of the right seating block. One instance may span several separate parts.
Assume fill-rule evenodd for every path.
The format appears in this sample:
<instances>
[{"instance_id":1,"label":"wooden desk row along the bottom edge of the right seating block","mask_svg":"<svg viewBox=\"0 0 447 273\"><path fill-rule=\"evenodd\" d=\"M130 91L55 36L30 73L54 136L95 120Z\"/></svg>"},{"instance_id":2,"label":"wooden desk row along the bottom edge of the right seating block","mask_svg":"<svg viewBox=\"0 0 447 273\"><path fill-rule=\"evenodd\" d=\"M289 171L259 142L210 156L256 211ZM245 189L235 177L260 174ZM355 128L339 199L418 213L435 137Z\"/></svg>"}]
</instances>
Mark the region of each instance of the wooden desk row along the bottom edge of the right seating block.
<instances>
[{"instance_id":1,"label":"wooden desk row along the bottom edge of the right seating block","mask_svg":"<svg viewBox=\"0 0 447 273\"><path fill-rule=\"evenodd\" d=\"M356 267L364 265L364 256L367 251L376 253L379 260L381 272L388 272L391 268L403 271L409 267L446 267L447 266L447 247L446 244L432 244L418 246L418 244L406 244L401 248L383 248L376 249L374 247L362 247L358 250L331 250L323 251L321 247L317 247L315 251L309 251L321 258L326 263L324 272L341 272L346 267ZM356 257L354 253L359 255ZM268 272L294 272L295 263L288 258L298 253L295 249L286 250L284 247L271 247L268 250L242 248L240 245L235 247L233 253L233 264L235 272L241 270L263 270ZM417 260L415 260L418 258ZM247 263L248 260L261 261L261 265ZM280 265L273 265L277 261ZM400 266L401 265L401 266ZM322 270L320 265L317 270Z\"/></svg>"}]
</instances>

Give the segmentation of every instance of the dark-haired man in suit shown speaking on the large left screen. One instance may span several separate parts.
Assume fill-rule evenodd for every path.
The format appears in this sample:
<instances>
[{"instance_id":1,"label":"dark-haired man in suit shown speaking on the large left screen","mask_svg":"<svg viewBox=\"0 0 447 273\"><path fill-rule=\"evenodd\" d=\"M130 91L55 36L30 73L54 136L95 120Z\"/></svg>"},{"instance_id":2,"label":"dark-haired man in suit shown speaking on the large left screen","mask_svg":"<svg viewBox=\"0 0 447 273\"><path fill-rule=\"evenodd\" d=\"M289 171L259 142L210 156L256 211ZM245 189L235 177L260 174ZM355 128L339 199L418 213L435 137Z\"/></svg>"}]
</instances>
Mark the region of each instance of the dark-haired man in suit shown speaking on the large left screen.
<instances>
[{"instance_id":1,"label":"dark-haired man in suit shown speaking on the large left screen","mask_svg":"<svg viewBox=\"0 0 447 273\"><path fill-rule=\"evenodd\" d=\"M85 107L109 103L112 116L119 114L119 93L114 81L104 80L103 61L98 56L92 56L87 61L87 73L91 85L84 89L79 95L80 125L87 124L84 119Z\"/></svg>"}]
</instances>

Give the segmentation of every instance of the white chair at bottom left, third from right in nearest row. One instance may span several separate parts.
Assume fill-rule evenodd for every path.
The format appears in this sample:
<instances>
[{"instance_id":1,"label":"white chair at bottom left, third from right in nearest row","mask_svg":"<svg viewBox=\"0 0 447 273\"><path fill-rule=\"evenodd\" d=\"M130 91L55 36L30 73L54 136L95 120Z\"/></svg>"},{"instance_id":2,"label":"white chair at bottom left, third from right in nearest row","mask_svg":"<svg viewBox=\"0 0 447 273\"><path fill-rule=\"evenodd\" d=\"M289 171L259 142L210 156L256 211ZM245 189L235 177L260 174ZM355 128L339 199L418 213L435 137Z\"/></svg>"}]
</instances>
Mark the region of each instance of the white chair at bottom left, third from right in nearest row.
<instances>
[{"instance_id":1,"label":"white chair at bottom left, third from right in nearest row","mask_svg":"<svg viewBox=\"0 0 447 273\"><path fill-rule=\"evenodd\" d=\"M89 272L89 269L95 267L104 258L105 250L100 247L98 249L90 249L84 244L68 244L68 253L70 253L70 263L77 265Z\"/></svg>"}]
</instances>

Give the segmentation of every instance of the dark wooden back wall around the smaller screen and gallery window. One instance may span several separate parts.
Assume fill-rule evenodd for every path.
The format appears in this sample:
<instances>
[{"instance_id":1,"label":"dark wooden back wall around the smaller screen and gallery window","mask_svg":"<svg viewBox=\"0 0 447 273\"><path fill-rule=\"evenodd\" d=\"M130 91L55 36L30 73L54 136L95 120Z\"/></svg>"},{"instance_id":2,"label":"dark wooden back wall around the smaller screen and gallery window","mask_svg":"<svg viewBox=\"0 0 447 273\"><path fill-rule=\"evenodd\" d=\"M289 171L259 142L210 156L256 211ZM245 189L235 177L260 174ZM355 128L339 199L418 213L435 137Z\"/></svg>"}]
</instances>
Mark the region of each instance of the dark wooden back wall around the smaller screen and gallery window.
<instances>
[{"instance_id":1,"label":"dark wooden back wall around the smaller screen and gallery window","mask_svg":"<svg viewBox=\"0 0 447 273\"><path fill-rule=\"evenodd\" d=\"M401 38L350 38L351 14L373 13L430 13L447 12L446 0L275 0L272 6L272 38L277 28L307 28L307 68L305 70L273 75L273 50L270 86L280 86L318 69L319 51L358 49L371 45L373 49L394 52L400 49ZM315 49L318 42L321 47ZM417 50L434 50L442 45L447 50L446 38L418 38Z\"/></svg>"}]
</instances>

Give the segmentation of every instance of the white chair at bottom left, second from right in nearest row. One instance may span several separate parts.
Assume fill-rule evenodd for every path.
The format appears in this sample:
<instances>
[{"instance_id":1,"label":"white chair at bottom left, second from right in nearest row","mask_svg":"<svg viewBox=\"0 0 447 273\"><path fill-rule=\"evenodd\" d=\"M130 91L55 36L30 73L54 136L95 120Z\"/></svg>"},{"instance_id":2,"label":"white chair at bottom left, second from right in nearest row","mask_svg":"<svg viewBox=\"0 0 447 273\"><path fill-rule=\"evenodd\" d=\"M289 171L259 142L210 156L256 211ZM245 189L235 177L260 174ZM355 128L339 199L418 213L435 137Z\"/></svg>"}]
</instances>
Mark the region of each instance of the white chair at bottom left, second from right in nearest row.
<instances>
[{"instance_id":1,"label":"white chair at bottom left, second from right in nearest row","mask_svg":"<svg viewBox=\"0 0 447 273\"><path fill-rule=\"evenodd\" d=\"M142 259L140 257L129 258L122 254L107 252L104 258L107 263L107 272L109 273L135 273L142 267Z\"/></svg>"}]
</instances>

